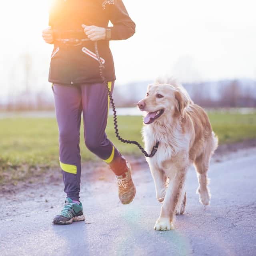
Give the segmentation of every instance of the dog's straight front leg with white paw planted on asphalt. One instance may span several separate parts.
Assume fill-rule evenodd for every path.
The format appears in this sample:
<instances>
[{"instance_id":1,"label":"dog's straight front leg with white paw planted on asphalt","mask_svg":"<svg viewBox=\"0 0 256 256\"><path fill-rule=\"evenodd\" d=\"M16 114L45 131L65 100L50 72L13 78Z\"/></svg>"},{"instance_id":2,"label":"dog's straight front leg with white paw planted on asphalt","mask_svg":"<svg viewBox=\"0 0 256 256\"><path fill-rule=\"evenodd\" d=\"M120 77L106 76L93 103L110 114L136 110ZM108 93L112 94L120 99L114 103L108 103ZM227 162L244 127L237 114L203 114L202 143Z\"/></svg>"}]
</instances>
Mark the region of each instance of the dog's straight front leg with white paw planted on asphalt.
<instances>
[{"instance_id":1,"label":"dog's straight front leg with white paw planted on asphalt","mask_svg":"<svg viewBox=\"0 0 256 256\"><path fill-rule=\"evenodd\" d=\"M166 196L164 198L161 212L156 224L155 230L170 230L173 228L173 220L178 206L178 202L183 200L184 183L186 176L186 168L177 171L172 186L168 186Z\"/></svg>"}]
</instances>

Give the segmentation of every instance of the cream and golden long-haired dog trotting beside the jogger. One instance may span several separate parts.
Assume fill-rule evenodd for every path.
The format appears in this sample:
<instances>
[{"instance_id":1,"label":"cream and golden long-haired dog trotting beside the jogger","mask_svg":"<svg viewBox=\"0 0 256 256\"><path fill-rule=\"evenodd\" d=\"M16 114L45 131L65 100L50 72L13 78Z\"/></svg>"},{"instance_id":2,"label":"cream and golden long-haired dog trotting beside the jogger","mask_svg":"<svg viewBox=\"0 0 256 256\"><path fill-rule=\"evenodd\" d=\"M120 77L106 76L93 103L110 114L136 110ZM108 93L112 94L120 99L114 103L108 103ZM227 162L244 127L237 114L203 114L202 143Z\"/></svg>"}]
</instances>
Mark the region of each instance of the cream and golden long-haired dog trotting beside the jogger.
<instances>
[{"instance_id":1,"label":"cream and golden long-haired dog trotting beside the jogger","mask_svg":"<svg viewBox=\"0 0 256 256\"><path fill-rule=\"evenodd\" d=\"M218 138L212 131L206 112L190 99L188 92L175 80L148 86L146 98L138 102L145 111L145 148L152 158L146 158L156 187L156 198L162 202L155 230L173 228L175 214L183 214L186 205L184 187L186 172L194 164L198 176L200 202L208 205L210 191L207 171Z\"/></svg>"}]
</instances>

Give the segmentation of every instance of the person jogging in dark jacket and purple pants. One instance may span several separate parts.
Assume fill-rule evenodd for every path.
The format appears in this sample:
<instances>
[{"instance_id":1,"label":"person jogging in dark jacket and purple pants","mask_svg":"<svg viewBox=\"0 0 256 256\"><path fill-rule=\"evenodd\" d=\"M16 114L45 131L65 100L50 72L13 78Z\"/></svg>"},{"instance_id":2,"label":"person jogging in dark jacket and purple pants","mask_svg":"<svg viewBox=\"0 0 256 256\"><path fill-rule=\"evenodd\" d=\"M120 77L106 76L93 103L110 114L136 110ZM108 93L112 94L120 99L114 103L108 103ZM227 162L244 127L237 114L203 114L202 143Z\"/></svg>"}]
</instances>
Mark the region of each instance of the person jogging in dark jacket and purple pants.
<instances>
[{"instance_id":1,"label":"person jogging in dark jacket and purple pants","mask_svg":"<svg viewBox=\"0 0 256 256\"><path fill-rule=\"evenodd\" d=\"M108 27L109 21L113 26ZM79 196L81 113L85 144L116 174L122 204L132 202L136 194L130 165L105 133L109 98L94 49L97 41L104 76L112 92L116 76L109 41L127 39L134 32L135 24L122 0L54 0L52 4L49 27L42 36L45 42L54 44L49 82L54 94L60 168L67 195L54 224L85 220Z\"/></svg>"}]
</instances>

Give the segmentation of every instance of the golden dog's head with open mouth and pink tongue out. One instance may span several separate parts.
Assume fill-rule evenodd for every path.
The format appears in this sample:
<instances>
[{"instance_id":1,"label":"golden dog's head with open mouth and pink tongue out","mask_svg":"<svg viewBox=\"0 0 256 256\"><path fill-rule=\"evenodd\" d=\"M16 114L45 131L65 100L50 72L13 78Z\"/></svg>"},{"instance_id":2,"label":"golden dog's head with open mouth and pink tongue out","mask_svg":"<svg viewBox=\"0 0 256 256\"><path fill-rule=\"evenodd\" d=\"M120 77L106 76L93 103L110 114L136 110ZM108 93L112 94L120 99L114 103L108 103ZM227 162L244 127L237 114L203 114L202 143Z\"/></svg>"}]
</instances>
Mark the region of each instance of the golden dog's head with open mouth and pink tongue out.
<instances>
[{"instance_id":1,"label":"golden dog's head with open mouth and pink tongue out","mask_svg":"<svg viewBox=\"0 0 256 256\"><path fill-rule=\"evenodd\" d=\"M164 117L175 118L183 116L189 99L179 88L170 84L150 84L146 98L138 102L138 108L145 111L145 124L155 120L164 122Z\"/></svg>"}]
</instances>

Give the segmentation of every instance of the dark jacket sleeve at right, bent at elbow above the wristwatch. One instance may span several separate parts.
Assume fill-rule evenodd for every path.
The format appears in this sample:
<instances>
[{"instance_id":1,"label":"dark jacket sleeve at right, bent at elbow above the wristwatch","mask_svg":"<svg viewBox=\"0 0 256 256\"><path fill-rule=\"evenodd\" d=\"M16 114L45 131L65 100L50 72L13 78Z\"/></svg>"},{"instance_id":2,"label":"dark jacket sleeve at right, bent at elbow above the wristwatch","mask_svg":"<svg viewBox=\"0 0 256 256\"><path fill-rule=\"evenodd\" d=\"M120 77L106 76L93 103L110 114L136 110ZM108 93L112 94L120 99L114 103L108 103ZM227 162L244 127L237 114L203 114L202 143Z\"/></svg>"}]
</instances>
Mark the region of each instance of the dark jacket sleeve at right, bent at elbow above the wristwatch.
<instances>
[{"instance_id":1,"label":"dark jacket sleeve at right, bent at elbow above the wristwatch","mask_svg":"<svg viewBox=\"0 0 256 256\"><path fill-rule=\"evenodd\" d=\"M110 21L113 27L110 40L122 40L130 38L135 33L135 23L130 18L122 0L115 0L114 4L109 4Z\"/></svg>"}]
</instances>

